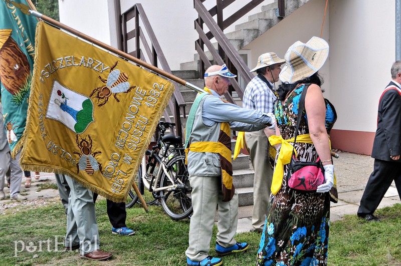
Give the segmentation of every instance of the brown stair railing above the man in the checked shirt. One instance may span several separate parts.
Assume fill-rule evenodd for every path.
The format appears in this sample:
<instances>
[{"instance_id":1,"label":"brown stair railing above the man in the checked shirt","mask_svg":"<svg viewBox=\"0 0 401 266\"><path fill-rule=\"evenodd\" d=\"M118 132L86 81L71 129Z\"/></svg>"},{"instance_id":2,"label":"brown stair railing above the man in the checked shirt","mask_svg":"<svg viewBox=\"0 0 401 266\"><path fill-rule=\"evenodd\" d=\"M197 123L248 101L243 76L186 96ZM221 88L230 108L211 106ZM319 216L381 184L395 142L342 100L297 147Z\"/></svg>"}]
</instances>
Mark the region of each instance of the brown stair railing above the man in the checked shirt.
<instances>
[{"instance_id":1,"label":"brown stair railing above the man in the checked shirt","mask_svg":"<svg viewBox=\"0 0 401 266\"><path fill-rule=\"evenodd\" d=\"M223 31L254 9L256 6L261 4L264 0L249 1L249 3L247 3L226 20L223 20L223 10L236 0L216 0L216 6L209 11L203 5L205 1L206 0L193 0L193 6L198 13L198 18L194 21L194 25L195 30L199 35L199 39L195 41L195 50L199 54L200 59L200 77L202 78L205 74L205 69L212 65L205 53L206 45L217 64L226 64L231 72L242 77L244 82L248 84L251 79L253 79L254 75L251 74L250 69L240 57L238 51L230 43ZM244 3L244 0L241 0L241 3ZM278 13L280 16L284 16L284 0L278 0ZM217 22L213 19L214 16L217 16ZM204 24L209 29L209 32L207 33L205 33L203 29ZM213 38L215 38L218 43L218 51L216 51L212 42L210 41ZM238 96L243 99L244 91L238 81L231 81L231 85L237 92ZM225 94L225 97L229 102L235 103L231 90Z\"/></svg>"}]
</instances>

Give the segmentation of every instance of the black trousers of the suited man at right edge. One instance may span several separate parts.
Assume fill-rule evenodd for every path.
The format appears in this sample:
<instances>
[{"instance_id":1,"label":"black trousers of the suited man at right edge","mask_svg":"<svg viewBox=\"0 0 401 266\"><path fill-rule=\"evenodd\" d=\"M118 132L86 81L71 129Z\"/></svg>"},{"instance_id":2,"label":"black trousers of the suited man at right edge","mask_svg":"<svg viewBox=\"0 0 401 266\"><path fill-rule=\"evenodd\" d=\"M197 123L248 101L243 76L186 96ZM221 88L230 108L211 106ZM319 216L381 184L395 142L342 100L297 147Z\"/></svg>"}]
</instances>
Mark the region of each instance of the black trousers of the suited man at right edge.
<instances>
[{"instance_id":1,"label":"black trousers of the suited man at right edge","mask_svg":"<svg viewBox=\"0 0 401 266\"><path fill-rule=\"evenodd\" d=\"M373 214L393 180L401 199L401 163L374 159L373 172L360 200L358 215Z\"/></svg>"}]
</instances>

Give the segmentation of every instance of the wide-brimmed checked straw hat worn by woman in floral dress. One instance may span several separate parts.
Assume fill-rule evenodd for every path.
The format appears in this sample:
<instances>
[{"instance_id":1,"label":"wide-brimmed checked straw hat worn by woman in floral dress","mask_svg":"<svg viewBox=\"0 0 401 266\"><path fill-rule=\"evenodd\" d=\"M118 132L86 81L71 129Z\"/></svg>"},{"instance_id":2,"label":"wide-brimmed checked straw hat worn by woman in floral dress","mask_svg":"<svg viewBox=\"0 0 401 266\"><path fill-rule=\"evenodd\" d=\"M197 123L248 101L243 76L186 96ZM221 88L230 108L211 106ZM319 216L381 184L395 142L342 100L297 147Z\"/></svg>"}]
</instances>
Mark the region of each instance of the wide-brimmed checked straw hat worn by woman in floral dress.
<instances>
[{"instance_id":1,"label":"wide-brimmed checked straw hat worn by woman in floral dress","mask_svg":"<svg viewBox=\"0 0 401 266\"><path fill-rule=\"evenodd\" d=\"M294 83L315 74L326 62L329 45L318 37L312 37L306 44L297 41L285 53L286 65L280 72L282 82Z\"/></svg>"}]
</instances>

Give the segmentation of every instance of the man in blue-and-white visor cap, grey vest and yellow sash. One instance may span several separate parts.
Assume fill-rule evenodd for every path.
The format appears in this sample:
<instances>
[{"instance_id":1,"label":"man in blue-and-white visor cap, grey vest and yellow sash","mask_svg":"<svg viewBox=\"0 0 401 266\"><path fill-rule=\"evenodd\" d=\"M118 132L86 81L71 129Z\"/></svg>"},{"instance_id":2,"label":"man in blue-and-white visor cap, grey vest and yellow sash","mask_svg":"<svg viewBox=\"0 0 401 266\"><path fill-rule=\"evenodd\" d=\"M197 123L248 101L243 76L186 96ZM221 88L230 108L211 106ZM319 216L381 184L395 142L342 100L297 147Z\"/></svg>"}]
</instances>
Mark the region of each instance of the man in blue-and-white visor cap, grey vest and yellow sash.
<instances>
[{"instance_id":1,"label":"man in blue-and-white visor cap, grey vest and yellow sash","mask_svg":"<svg viewBox=\"0 0 401 266\"><path fill-rule=\"evenodd\" d=\"M228 68L211 66L205 73L205 91L197 95L185 127L185 153L192 187L193 215L189 225L187 265L222 265L221 258L209 256L216 207L219 222L216 252L219 255L243 252L248 243L237 242L238 192L233 185L231 129L260 130L274 120L261 111L227 103L230 79Z\"/></svg>"}]
</instances>

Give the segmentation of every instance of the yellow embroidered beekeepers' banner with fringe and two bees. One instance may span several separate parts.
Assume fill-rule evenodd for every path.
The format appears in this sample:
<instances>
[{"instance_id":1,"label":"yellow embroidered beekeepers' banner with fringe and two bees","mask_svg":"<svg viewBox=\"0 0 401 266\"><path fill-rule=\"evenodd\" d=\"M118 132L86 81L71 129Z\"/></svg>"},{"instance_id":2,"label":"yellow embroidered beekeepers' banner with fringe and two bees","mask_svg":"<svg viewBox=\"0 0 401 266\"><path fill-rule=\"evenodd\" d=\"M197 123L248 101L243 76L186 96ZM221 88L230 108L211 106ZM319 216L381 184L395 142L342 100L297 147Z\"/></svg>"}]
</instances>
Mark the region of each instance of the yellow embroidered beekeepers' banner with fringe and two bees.
<instances>
[{"instance_id":1,"label":"yellow embroidered beekeepers' banner with fringe and two bees","mask_svg":"<svg viewBox=\"0 0 401 266\"><path fill-rule=\"evenodd\" d=\"M43 22L20 163L123 201L173 85Z\"/></svg>"}]
</instances>

